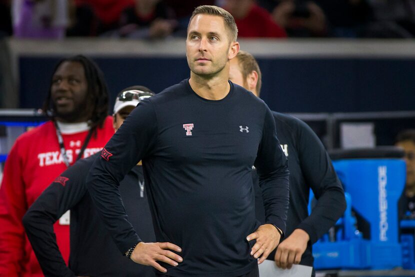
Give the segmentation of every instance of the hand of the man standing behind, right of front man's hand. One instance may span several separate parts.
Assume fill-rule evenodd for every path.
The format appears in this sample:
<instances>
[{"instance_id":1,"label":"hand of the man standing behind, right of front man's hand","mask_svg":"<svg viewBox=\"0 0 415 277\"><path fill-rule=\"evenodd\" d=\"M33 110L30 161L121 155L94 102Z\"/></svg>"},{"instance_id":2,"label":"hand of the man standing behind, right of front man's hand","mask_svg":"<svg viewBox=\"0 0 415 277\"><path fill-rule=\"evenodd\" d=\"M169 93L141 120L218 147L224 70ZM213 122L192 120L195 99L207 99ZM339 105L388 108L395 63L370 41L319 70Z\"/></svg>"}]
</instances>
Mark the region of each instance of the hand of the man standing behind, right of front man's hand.
<instances>
[{"instance_id":1,"label":"hand of the man standing behind, right of front man's hand","mask_svg":"<svg viewBox=\"0 0 415 277\"><path fill-rule=\"evenodd\" d=\"M298 264L307 248L309 238L309 235L304 230L295 229L278 245L275 252L276 266L291 268L292 264Z\"/></svg>"}]
</instances>

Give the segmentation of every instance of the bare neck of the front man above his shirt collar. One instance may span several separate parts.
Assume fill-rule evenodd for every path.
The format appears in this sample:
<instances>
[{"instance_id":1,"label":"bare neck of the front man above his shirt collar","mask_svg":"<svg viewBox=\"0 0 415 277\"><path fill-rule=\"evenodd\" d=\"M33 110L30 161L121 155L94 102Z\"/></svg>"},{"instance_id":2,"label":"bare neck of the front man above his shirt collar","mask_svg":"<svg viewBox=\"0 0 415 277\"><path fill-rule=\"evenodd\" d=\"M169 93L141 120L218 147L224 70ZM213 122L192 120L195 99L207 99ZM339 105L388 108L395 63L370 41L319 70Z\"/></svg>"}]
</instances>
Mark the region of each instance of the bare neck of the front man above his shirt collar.
<instances>
[{"instance_id":1,"label":"bare neck of the front man above his shirt collar","mask_svg":"<svg viewBox=\"0 0 415 277\"><path fill-rule=\"evenodd\" d=\"M220 75L213 78L203 78L190 72L189 84L197 95L208 100L220 100L229 93L230 85L228 77Z\"/></svg>"}]
</instances>

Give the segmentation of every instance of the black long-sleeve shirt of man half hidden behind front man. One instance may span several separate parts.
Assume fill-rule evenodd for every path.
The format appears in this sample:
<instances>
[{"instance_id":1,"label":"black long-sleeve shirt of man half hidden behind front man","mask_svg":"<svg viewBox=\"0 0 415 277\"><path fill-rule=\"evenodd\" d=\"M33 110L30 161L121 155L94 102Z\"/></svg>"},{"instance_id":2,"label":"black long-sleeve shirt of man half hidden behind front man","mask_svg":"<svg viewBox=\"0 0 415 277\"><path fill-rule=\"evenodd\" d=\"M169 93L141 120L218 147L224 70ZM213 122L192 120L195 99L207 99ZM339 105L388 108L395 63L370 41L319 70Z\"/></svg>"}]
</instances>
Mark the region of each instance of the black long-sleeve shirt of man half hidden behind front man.
<instances>
[{"instance_id":1,"label":"black long-sleeve shirt of man half hidden behind front man","mask_svg":"<svg viewBox=\"0 0 415 277\"><path fill-rule=\"evenodd\" d=\"M303 121L279 112L272 112L278 139L288 158L289 208L285 237L296 228L310 237L300 264L313 265L311 244L316 242L335 224L346 208L344 191L324 146L317 135ZM255 179L255 173L253 174ZM264 221L262 195L255 185L255 212ZM309 191L312 189L317 203L308 215ZM268 259L274 258L274 252Z\"/></svg>"}]
</instances>

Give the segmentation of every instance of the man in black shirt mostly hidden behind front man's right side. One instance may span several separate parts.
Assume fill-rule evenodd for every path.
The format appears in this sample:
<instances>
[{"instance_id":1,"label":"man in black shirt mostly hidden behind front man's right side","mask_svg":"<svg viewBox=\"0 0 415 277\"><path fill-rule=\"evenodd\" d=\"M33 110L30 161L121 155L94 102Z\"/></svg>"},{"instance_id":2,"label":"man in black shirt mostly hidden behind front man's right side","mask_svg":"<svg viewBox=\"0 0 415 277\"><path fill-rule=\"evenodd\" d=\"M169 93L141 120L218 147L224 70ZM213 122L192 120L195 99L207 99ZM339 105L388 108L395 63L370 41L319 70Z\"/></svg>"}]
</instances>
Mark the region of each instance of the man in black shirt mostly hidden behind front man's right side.
<instances>
[{"instance_id":1,"label":"man in black shirt mostly hidden behind front man's right side","mask_svg":"<svg viewBox=\"0 0 415 277\"><path fill-rule=\"evenodd\" d=\"M259 97L261 71L250 53L239 51L230 61L229 79ZM282 268L290 268L294 263L312 266L311 245L343 214L344 191L324 146L311 128L295 117L272 113L290 171L287 228L273 258ZM318 201L308 215L310 188ZM255 192L258 190L256 186ZM257 218L263 222L262 197L260 193L255 196Z\"/></svg>"}]
</instances>

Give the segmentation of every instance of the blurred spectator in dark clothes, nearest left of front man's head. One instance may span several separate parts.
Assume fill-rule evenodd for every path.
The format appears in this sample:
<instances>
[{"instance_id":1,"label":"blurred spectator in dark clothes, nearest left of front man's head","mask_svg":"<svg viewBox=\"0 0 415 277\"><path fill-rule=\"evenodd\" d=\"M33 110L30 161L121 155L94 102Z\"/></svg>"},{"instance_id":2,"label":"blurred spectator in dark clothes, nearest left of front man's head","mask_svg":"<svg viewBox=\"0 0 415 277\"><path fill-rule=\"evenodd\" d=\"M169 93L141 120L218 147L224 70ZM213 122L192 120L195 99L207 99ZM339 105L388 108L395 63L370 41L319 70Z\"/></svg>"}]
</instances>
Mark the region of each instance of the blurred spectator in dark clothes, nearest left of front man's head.
<instances>
[{"instance_id":1,"label":"blurred spectator in dark clothes, nearest left of front man's head","mask_svg":"<svg viewBox=\"0 0 415 277\"><path fill-rule=\"evenodd\" d=\"M162 38L170 35L177 25L174 12L162 0L135 0L135 5L123 10L119 28L109 36Z\"/></svg>"}]
</instances>

